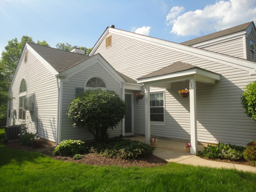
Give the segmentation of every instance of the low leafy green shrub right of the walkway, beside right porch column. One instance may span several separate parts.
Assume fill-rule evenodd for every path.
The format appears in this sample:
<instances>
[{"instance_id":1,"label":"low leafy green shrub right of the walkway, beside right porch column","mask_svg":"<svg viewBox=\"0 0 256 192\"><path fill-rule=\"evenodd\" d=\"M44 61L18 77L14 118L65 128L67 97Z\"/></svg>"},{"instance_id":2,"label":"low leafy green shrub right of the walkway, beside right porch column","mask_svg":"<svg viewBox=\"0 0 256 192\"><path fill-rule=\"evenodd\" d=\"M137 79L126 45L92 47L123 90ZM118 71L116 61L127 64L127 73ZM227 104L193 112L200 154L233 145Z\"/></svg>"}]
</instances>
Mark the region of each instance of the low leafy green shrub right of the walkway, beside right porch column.
<instances>
[{"instance_id":1,"label":"low leafy green shrub right of the walkway, beside right porch column","mask_svg":"<svg viewBox=\"0 0 256 192\"><path fill-rule=\"evenodd\" d=\"M244 147L232 144L219 143L217 146L208 145L204 147L204 151L198 151L197 156L205 156L212 159L225 158L237 160L243 158Z\"/></svg>"}]
</instances>

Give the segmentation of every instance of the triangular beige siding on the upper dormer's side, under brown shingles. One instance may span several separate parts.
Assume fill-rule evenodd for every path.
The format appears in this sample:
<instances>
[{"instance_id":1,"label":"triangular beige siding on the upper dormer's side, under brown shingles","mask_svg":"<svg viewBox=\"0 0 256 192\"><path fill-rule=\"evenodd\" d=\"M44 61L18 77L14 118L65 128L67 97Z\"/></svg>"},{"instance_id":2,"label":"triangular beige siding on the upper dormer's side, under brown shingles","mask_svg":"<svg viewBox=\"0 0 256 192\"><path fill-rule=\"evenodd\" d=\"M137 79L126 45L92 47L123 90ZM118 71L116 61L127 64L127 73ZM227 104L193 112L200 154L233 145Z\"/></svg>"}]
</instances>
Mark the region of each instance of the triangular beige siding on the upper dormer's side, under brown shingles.
<instances>
[{"instance_id":1,"label":"triangular beige siding on the upper dormer's side, under brown shingles","mask_svg":"<svg viewBox=\"0 0 256 192\"><path fill-rule=\"evenodd\" d=\"M194 46L193 46L194 47ZM217 43L213 45L201 46L200 49L205 49L212 52L222 53L244 59L244 46L243 37L225 41L223 43Z\"/></svg>"}]
</instances>

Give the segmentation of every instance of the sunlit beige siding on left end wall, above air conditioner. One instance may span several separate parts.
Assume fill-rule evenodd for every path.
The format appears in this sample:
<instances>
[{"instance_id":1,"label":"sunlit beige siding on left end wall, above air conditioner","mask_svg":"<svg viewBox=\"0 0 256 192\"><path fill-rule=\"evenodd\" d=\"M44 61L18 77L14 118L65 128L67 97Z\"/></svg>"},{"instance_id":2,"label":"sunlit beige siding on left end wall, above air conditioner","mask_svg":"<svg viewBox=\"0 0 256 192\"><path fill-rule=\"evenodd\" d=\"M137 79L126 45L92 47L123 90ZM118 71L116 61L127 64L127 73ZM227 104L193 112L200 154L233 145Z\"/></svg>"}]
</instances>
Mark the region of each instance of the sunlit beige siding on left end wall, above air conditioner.
<instances>
[{"instance_id":1,"label":"sunlit beige siding on left end wall, above air conditioner","mask_svg":"<svg viewBox=\"0 0 256 192\"><path fill-rule=\"evenodd\" d=\"M19 120L19 91L23 78L27 83L27 95L35 92L35 107L34 111L26 111L25 120ZM17 112L15 124L25 123L27 131L38 131L39 137L55 142L58 97L56 77L29 50L28 61L24 64L23 57L10 94L15 98L11 101L11 110L16 109ZM7 118L7 125L11 125L12 119L11 113L11 118Z\"/></svg>"}]
</instances>

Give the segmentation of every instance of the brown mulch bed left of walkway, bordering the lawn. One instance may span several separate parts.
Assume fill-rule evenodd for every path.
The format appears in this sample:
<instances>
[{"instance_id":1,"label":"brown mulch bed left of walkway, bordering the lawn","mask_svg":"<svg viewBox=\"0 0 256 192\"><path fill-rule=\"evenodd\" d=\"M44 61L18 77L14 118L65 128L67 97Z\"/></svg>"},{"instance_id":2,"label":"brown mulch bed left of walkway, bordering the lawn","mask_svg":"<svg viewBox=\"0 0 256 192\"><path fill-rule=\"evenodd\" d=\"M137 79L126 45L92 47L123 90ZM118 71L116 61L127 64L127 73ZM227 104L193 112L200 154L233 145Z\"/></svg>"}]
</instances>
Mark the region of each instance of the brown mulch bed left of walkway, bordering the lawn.
<instances>
[{"instance_id":1,"label":"brown mulch bed left of walkway, bordering the lawn","mask_svg":"<svg viewBox=\"0 0 256 192\"><path fill-rule=\"evenodd\" d=\"M5 145L5 147L8 147L8 148L20 149L23 151L32 151L32 152L36 152L38 150L52 147L46 143L43 143L42 148L36 149L36 148L32 148L32 147L22 146L18 141L4 143L4 145ZM101 166L116 165L119 167L131 167L131 166L156 167L156 166L163 166L163 165L167 164L167 162L164 159L154 156L153 154L149 154L145 158L138 158L135 160L124 160L124 159L113 159L113 158L109 158L109 157L99 156L94 153L84 153L84 154L81 154L81 155L84 155L84 157L82 159L73 160L73 155L53 156L52 150L44 151L41 153L44 153L47 156L51 156L53 159L61 160L64 162L71 161L74 163L83 163L83 164L89 164L89 165L101 165Z\"/></svg>"}]
</instances>

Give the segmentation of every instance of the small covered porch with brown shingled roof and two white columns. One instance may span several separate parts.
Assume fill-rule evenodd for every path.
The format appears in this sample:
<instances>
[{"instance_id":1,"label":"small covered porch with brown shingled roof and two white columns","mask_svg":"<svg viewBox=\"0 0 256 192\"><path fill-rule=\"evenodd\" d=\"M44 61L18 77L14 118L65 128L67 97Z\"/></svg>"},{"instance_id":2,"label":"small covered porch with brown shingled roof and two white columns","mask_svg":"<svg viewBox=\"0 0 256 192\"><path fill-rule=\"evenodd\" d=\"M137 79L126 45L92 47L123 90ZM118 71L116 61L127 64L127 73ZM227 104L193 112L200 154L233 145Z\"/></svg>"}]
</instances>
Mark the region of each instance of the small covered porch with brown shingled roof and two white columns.
<instances>
[{"instance_id":1,"label":"small covered porch with brown shingled roof and two white columns","mask_svg":"<svg viewBox=\"0 0 256 192\"><path fill-rule=\"evenodd\" d=\"M197 144L197 109L196 109L196 82L215 84L220 81L221 75L194 65L175 62L167 67L149 73L137 79L145 86L145 143L150 144L150 87L171 89L172 83L189 81L189 107L190 107L190 153L196 154ZM200 149L201 150L201 149Z\"/></svg>"}]
</instances>

